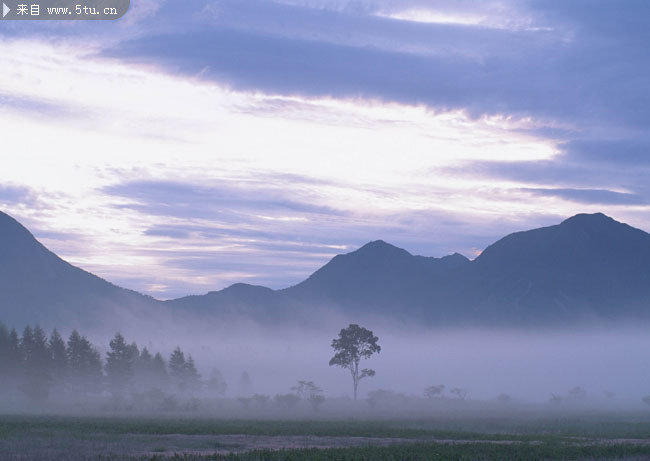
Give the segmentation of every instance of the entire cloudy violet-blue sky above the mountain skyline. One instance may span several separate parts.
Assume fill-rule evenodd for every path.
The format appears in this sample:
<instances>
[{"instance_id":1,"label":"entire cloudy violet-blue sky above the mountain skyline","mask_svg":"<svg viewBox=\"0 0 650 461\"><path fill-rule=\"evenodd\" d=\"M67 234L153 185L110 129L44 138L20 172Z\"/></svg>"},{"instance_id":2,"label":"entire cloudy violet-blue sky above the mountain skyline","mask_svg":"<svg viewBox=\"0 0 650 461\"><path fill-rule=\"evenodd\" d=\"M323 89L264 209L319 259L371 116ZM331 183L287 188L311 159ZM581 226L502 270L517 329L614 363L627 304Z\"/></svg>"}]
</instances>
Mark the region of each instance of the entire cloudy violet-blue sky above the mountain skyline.
<instances>
[{"instance_id":1,"label":"entire cloudy violet-blue sky above the mountain skyline","mask_svg":"<svg viewBox=\"0 0 650 461\"><path fill-rule=\"evenodd\" d=\"M0 210L169 299L382 239L650 230L650 3L132 0L0 22Z\"/></svg>"}]
</instances>

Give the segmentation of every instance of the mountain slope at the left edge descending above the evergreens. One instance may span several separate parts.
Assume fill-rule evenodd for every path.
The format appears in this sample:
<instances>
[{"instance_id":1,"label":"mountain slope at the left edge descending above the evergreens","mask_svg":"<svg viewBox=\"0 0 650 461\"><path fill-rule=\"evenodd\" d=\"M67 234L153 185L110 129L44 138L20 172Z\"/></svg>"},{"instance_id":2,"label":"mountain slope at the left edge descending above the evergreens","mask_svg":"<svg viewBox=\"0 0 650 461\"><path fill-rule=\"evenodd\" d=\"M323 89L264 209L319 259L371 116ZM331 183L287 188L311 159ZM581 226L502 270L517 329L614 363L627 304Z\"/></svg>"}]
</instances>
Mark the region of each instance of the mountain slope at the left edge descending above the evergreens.
<instances>
[{"instance_id":1,"label":"mountain slope at the left edge descending above the evergreens","mask_svg":"<svg viewBox=\"0 0 650 461\"><path fill-rule=\"evenodd\" d=\"M85 325L156 303L65 262L0 212L0 320Z\"/></svg>"}]
</instances>

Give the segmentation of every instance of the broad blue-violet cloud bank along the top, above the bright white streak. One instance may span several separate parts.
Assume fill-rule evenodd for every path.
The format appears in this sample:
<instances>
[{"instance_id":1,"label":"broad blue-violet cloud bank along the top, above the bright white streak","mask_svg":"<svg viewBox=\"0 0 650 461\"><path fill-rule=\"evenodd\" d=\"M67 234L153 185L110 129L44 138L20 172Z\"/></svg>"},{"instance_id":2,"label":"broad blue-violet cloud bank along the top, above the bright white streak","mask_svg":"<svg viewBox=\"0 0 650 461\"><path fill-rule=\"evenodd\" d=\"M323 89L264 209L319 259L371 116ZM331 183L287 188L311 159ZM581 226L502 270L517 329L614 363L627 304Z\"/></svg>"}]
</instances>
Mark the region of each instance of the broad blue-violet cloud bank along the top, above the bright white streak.
<instances>
[{"instance_id":1,"label":"broad blue-violet cloud bank along the top, above the bright white streak","mask_svg":"<svg viewBox=\"0 0 650 461\"><path fill-rule=\"evenodd\" d=\"M197 16L201 26L192 32L154 33L107 53L241 89L361 94L570 124L648 121L650 113L637 99L646 85L637 76L648 64L639 55L646 32L637 27L636 6L605 3L594 13L593 8L521 2L333 5L224 1L215 17ZM589 14L578 14L587 9ZM505 18L521 27L390 22L377 16L381 11L437 11L461 18L474 11L485 24ZM617 24L635 26L608 26L602 33L610 13ZM287 23L286 17L295 20Z\"/></svg>"}]
</instances>

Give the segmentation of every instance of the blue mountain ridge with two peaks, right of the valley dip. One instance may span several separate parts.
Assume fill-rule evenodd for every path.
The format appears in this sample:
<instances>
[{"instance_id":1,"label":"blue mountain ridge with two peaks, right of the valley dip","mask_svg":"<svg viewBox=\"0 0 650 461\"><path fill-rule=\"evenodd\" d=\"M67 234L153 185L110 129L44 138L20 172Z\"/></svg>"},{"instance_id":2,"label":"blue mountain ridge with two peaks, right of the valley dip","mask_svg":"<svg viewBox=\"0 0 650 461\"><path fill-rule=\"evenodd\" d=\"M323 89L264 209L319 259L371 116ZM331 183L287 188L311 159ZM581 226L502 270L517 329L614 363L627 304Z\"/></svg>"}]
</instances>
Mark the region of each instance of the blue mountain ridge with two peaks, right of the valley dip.
<instances>
[{"instance_id":1,"label":"blue mountain ridge with two peaks, right of the valley dip","mask_svg":"<svg viewBox=\"0 0 650 461\"><path fill-rule=\"evenodd\" d=\"M579 214L510 234L474 261L458 253L414 256L377 240L334 257L293 287L239 285L237 293L231 287L192 303L202 312L262 319L317 308L440 325L650 319L650 234L602 213Z\"/></svg>"}]
</instances>

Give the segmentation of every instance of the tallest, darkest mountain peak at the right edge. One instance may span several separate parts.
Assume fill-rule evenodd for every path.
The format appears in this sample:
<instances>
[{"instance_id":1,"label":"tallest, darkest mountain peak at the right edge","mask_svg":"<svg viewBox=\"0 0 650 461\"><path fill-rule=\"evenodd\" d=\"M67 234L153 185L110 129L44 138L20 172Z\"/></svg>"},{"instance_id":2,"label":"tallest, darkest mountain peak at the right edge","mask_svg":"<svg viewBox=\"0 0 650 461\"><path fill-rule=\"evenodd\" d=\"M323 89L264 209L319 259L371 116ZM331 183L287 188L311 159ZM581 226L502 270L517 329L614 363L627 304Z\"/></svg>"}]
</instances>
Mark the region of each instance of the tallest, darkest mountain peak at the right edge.
<instances>
[{"instance_id":1,"label":"tallest, darkest mountain peak at the right edge","mask_svg":"<svg viewBox=\"0 0 650 461\"><path fill-rule=\"evenodd\" d=\"M477 317L560 321L647 315L650 234L601 213L576 215L490 245L457 284L465 285L457 304Z\"/></svg>"}]
</instances>

